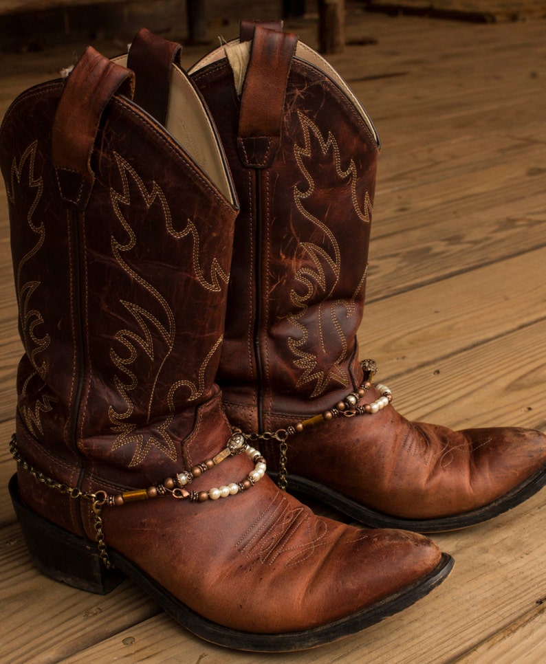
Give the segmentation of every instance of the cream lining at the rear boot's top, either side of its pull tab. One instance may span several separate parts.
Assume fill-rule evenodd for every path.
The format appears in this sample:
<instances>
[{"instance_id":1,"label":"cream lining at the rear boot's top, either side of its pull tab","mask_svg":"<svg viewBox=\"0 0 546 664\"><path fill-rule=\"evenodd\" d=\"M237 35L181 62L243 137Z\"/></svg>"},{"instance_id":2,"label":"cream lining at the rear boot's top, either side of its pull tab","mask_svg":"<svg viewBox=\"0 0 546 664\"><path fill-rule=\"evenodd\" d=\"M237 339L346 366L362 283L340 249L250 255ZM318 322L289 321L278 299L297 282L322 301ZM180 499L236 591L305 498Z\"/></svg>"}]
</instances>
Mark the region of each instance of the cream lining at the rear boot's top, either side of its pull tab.
<instances>
[{"instance_id":1,"label":"cream lining at the rear boot's top, either side of its pull tab","mask_svg":"<svg viewBox=\"0 0 546 664\"><path fill-rule=\"evenodd\" d=\"M241 48L243 46L245 46L245 48ZM210 65L210 63L215 63L219 60L222 60L223 58L228 58L230 66L233 70L235 88L237 89L237 94L240 94L246 74L246 69L248 67L248 60L250 58L250 42L243 42L243 44L240 44L239 39L234 39L228 44L218 47L207 56L205 56L202 60L199 60L198 63L193 65L190 71L188 71L188 74L191 76L192 74L195 74L196 71L199 71L199 69L203 69L203 67ZM341 78L334 67L331 67L331 65L329 65L329 63L327 63L327 61L322 56L320 56L309 46L301 43L301 41L298 41L298 45L296 46L296 58L303 60L305 63L309 63L309 65L313 65L320 71L323 71L323 73L326 74L328 78L331 78L331 80L334 81L338 88L343 93L345 93L345 96L362 117L362 120L364 120L364 122L367 124L368 129L371 131L373 137L375 138L375 142L379 145L378 132L376 131L375 126L373 126L373 122L371 121L368 113L365 111L364 107L362 107L362 104L356 97L355 93L353 93L351 88Z\"/></svg>"}]
</instances>

